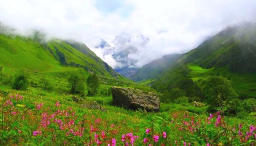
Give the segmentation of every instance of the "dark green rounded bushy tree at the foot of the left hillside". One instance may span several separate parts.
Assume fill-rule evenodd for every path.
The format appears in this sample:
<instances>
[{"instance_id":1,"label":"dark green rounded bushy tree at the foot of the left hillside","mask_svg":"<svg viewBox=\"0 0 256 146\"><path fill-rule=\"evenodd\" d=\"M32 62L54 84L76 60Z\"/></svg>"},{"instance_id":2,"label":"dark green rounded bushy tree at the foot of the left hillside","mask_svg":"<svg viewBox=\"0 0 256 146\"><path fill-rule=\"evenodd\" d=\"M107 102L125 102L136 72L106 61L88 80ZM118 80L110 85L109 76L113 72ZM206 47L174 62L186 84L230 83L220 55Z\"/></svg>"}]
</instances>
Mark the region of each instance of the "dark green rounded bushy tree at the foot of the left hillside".
<instances>
[{"instance_id":1,"label":"dark green rounded bushy tree at the foot of the left hillside","mask_svg":"<svg viewBox=\"0 0 256 146\"><path fill-rule=\"evenodd\" d=\"M29 87L28 77L24 72L16 74L14 82L12 84L12 89L16 90L26 90Z\"/></svg>"}]
</instances>

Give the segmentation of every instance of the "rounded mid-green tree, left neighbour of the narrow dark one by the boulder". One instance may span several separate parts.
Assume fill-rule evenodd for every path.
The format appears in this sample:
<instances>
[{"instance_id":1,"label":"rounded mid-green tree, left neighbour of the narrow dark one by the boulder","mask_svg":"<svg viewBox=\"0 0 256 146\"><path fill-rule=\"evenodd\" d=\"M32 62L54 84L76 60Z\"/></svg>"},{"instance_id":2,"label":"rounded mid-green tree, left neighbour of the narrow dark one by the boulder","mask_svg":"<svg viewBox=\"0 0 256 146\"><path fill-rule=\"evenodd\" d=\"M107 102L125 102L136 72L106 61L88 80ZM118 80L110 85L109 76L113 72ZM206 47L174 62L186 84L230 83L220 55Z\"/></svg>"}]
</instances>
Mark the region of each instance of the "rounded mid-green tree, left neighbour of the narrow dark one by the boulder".
<instances>
[{"instance_id":1,"label":"rounded mid-green tree, left neighbour of the narrow dark one by the boulder","mask_svg":"<svg viewBox=\"0 0 256 146\"><path fill-rule=\"evenodd\" d=\"M71 93L84 92L84 78L79 74L71 74L71 76L68 78L68 82L71 85Z\"/></svg>"}]
</instances>

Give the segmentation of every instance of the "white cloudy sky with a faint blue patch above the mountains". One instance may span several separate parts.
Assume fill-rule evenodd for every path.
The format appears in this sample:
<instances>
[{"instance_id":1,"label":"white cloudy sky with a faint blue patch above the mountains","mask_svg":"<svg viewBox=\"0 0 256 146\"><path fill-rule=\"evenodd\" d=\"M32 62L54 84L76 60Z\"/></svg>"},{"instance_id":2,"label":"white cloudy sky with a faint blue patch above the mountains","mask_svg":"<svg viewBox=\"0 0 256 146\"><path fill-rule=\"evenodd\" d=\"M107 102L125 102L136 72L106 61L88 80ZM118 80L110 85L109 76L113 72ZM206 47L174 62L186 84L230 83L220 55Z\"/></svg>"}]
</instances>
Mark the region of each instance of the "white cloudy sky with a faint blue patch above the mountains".
<instances>
[{"instance_id":1,"label":"white cloudy sky with a faint blue patch above the mountains","mask_svg":"<svg viewBox=\"0 0 256 146\"><path fill-rule=\"evenodd\" d=\"M121 32L149 38L133 54L139 67L191 50L227 26L255 20L256 0L0 0L5 25L84 42L114 68L115 59L93 48L100 38L112 42Z\"/></svg>"}]
</instances>

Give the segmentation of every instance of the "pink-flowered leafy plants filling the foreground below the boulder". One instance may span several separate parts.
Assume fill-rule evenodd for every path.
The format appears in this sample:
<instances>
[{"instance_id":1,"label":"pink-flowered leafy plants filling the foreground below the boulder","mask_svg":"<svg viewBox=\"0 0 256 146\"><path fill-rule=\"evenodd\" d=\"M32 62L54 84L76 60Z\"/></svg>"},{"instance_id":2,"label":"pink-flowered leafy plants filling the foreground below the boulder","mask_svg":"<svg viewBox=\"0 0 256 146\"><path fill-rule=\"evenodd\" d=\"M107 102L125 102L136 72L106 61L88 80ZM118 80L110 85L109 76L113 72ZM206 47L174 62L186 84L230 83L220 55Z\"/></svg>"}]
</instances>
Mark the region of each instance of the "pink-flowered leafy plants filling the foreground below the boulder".
<instances>
[{"instance_id":1,"label":"pink-flowered leafy plants filling the foreground below the boulder","mask_svg":"<svg viewBox=\"0 0 256 146\"><path fill-rule=\"evenodd\" d=\"M197 116L175 112L163 119L142 113L142 123L109 123L94 111L75 111L60 101L52 105L10 95L1 98L0 145L216 146L256 145L256 125L230 124L221 112ZM105 113L108 114L108 113Z\"/></svg>"}]
</instances>

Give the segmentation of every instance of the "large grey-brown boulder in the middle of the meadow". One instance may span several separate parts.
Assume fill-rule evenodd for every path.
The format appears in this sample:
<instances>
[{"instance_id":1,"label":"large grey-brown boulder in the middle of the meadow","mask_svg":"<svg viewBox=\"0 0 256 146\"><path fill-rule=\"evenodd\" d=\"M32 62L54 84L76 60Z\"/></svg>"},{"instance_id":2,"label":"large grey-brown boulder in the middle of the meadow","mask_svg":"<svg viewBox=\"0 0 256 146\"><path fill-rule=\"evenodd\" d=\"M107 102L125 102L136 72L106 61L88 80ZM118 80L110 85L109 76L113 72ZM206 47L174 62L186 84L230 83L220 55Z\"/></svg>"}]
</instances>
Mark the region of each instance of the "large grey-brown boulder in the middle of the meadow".
<instances>
[{"instance_id":1,"label":"large grey-brown boulder in the middle of the meadow","mask_svg":"<svg viewBox=\"0 0 256 146\"><path fill-rule=\"evenodd\" d=\"M154 92L119 87L111 87L111 90L114 105L131 110L145 109L146 111L159 111L159 97Z\"/></svg>"}]
</instances>

